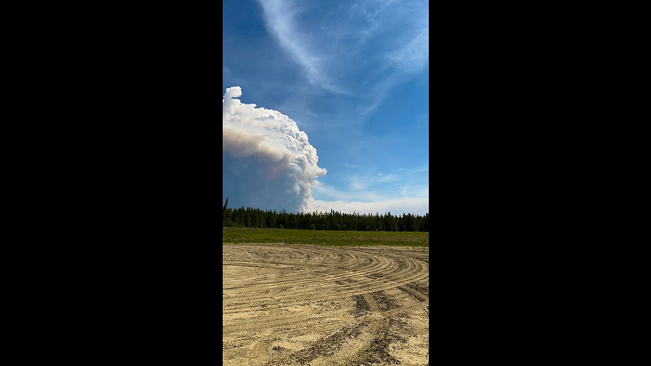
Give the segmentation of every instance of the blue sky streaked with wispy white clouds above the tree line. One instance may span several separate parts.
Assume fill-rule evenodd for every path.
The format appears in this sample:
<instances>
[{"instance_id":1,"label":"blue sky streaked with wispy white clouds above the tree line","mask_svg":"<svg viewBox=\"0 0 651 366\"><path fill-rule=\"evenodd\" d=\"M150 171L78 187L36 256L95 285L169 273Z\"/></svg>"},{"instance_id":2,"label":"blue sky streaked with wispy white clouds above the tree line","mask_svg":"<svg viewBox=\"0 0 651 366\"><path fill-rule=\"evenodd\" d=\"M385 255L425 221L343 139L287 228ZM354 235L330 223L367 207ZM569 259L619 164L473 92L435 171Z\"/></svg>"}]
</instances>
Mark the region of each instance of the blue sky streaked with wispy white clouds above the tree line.
<instances>
[{"instance_id":1,"label":"blue sky streaked with wispy white clouds above the tree line","mask_svg":"<svg viewBox=\"0 0 651 366\"><path fill-rule=\"evenodd\" d=\"M309 204L257 202L255 166L291 159L230 154L225 142L229 206L429 212L428 2L227 0L222 66L222 94L240 87L242 104L296 122L327 171L296 188L307 187ZM270 197L292 190L279 176Z\"/></svg>"}]
</instances>

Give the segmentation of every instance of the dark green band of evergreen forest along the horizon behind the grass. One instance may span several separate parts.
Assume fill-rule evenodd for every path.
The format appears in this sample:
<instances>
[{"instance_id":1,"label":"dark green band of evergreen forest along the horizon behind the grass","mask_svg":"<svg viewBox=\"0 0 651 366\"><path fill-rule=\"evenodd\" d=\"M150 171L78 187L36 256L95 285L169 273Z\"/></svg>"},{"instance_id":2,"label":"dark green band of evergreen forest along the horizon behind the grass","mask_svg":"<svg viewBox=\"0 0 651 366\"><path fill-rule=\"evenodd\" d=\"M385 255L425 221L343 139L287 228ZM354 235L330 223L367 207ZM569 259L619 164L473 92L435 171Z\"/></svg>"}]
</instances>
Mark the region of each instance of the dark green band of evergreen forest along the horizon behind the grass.
<instances>
[{"instance_id":1,"label":"dark green band of evergreen forest along the horizon behind the grass","mask_svg":"<svg viewBox=\"0 0 651 366\"><path fill-rule=\"evenodd\" d=\"M337 231L430 231L430 214L425 216L387 212L378 214L342 214L330 212L276 212L260 208L229 208L229 199L224 203L223 227L262 227L273 229L337 230Z\"/></svg>"}]
</instances>

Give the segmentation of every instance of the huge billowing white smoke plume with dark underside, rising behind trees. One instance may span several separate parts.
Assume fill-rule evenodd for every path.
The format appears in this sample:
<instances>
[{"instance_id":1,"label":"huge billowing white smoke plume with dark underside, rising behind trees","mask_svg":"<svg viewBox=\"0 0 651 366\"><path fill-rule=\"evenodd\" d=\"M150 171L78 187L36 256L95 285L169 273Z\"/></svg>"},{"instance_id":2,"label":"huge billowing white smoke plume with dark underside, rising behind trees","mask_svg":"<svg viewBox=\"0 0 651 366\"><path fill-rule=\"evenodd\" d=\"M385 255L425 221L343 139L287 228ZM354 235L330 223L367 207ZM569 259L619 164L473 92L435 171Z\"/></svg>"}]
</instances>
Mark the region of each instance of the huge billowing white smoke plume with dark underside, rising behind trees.
<instances>
[{"instance_id":1,"label":"huge billowing white smoke plume with dark underside, rising behind trees","mask_svg":"<svg viewBox=\"0 0 651 366\"><path fill-rule=\"evenodd\" d=\"M229 207L309 211L311 188L326 169L316 148L292 119L278 111L242 104L242 88L223 98L223 199Z\"/></svg>"}]
</instances>

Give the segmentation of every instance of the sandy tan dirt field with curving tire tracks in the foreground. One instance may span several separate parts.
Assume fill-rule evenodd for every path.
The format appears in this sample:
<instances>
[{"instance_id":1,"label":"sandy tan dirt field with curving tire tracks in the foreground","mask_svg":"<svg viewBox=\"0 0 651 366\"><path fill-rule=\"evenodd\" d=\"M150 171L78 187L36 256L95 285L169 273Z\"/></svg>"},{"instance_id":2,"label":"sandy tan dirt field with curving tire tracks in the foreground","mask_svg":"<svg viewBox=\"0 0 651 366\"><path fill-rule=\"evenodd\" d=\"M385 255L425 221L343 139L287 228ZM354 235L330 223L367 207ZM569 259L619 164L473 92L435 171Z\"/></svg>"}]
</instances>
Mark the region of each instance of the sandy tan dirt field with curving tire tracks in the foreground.
<instances>
[{"instance_id":1,"label":"sandy tan dirt field with curving tire tracks in the foreground","mask_svg":"<svg viewBox=\"0 0 651 366\"><path fill-rule=\"evenodd\" d=\"M223 365L428 365L429 251L223 244Z\"/></svg>"}]
</instances>

